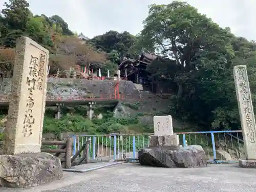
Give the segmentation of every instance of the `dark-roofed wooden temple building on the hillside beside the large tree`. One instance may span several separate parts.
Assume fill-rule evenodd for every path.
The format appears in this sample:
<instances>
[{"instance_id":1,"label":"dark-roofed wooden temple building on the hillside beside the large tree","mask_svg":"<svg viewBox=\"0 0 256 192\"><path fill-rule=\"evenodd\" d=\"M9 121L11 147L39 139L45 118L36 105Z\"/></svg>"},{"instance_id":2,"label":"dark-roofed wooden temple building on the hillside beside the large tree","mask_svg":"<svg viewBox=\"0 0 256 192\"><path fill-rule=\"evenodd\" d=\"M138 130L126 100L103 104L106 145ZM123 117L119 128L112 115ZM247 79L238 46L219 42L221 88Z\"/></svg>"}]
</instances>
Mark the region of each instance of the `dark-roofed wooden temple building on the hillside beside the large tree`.
<instances>
[{"instance_id":1,"label":"dark-roofed wooden temple building on the hillside beside the large tree","mask_svg":"<svg viewBox=\"0 0 256 192\"><path fill-rule=\"evenodd\" d=\"M127 80L150 86L151 74L146 71L146 68L157 58L157 55L151 53L143 53L138 59L124 57L118 70L120 70L121 76L126 77Z\"/></svg>"}]
</instances>

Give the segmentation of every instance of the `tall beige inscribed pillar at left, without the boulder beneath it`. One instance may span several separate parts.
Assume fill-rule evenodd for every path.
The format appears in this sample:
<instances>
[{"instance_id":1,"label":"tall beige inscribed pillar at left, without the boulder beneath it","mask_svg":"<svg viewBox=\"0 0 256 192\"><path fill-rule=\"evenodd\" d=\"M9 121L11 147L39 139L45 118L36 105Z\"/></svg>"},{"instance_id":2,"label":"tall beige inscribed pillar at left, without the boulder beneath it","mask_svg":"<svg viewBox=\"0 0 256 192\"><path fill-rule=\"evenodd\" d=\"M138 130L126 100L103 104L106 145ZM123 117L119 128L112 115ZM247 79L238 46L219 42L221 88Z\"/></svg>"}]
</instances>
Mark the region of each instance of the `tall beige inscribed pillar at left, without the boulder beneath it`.
<instances>
[{"instance_id":1,"label":"tall beige inscribed pillar at left, without the boulder beneath it","mask_svg":"<svg viewBox=\"0 0 256 192\"><path fill-rule=\"evenodd\" d=\"M44 123L49 51L28 37L18 39L4 153L39 153Z\"/></svg>"}]
</instances>

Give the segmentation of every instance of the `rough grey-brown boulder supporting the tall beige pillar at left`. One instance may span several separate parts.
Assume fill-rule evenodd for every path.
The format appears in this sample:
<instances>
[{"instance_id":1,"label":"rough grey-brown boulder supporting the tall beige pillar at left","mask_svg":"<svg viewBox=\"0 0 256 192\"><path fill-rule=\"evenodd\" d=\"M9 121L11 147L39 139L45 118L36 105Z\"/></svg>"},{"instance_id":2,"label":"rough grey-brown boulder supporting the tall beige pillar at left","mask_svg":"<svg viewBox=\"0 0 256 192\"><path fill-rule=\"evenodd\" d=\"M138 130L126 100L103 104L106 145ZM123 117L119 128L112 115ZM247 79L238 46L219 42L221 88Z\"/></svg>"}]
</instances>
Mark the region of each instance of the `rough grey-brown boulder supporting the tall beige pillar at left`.
<instances>
[{"instance_id":1,"label":"rough grey-brown boulder supporting the tall beige pillar at left","mask_svg":"<svg viewBox=\"0 0 256 192\"><path fill-rule=\"evenodd\" d=\"M36 186L62 177L60 160L51 154L0 155L0 186Z\"/></svg>"}]
</instances>

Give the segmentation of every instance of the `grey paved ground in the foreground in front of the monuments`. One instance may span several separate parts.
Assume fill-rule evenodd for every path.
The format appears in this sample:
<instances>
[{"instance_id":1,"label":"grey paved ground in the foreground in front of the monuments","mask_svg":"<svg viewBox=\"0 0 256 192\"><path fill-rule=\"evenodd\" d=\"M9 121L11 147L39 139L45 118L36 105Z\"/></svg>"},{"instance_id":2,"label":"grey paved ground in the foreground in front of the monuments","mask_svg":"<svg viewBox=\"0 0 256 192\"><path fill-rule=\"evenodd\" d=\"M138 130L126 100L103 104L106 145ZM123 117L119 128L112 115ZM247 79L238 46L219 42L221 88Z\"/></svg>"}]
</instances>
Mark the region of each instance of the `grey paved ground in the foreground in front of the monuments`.
<instances>
[{"instance_id":1,"label":"grey paved ground in the foreground in front of the monuments","mask_svg":"<svg viewBox=\"0 0 256 192\"><path fill-rule=\"evenodd\" d=\"M82 167L81 167L82 168ZM123 163L86 173L65 172L65 178L30 189L1 192L246 192L256 191L256 169L237 165L204 168L158 168Z\"/></svg>"}]
</instances>

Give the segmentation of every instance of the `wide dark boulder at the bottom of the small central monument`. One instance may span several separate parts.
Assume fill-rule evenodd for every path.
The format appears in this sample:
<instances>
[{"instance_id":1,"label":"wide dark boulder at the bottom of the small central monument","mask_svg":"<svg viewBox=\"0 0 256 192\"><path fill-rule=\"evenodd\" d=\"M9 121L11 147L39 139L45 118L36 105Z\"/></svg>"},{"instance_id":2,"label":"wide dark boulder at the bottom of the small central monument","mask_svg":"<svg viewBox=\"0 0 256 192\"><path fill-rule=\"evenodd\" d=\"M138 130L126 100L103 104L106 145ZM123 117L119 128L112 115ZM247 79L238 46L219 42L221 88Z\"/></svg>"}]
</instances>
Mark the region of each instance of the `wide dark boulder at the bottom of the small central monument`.
<instances>
[{"instance_id":1,"label":"wide dark boulder at the bottom of the small central monument","mask_svg":"<svg viewBox=\"0 0 256 192\"><path fill-rule=\"evenodd\" d=\"M199 145L148 147L140 150L138 156L142 165L170 168L207 166L205 152Z\"/></svg>"}]
</instances>

